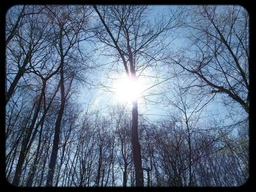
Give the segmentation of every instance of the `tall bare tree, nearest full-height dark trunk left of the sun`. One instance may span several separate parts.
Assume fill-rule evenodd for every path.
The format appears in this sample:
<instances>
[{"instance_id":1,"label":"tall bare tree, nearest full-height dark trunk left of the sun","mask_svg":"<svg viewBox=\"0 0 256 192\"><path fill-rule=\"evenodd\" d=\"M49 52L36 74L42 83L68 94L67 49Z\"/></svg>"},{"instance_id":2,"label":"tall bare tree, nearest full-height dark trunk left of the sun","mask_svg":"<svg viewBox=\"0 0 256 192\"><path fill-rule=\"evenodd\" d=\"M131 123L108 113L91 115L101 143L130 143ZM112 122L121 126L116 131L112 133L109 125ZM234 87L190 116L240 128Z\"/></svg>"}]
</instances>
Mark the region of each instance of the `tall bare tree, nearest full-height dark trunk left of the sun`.
<instances>
[{"instance_id":1,"label":"tall bare tree, nearest full-height dark trunk left of the sun","mask_svg":"<svg viewBox=\"0 0 256 192\"><path fill-rule=\"evenodd\" d=\"M53 23L53 31L56 35L53 43L56 43L56 50L59 53L60 66L60 88L61 88L61 104L59 114L56 119L55 134L53 139L53 150L50 156L50 164L48 171L48 180L46 185L53 185L53 174L56 166L56 158L59 149L59 136L61 130L61 119L64 114L64 107L67 100L67 94L72 85L75 73L67 74L67 58L72 58L72 54L76 53L76 45L86 39L83 37L85 25L88 19L86 7L46 7L51 23ZM75 61L73 61L75 63ZM65 91L64 73L69 77L69 85ZM66 93L65 93L66 92Z\"/></svg>"}]
</instances>

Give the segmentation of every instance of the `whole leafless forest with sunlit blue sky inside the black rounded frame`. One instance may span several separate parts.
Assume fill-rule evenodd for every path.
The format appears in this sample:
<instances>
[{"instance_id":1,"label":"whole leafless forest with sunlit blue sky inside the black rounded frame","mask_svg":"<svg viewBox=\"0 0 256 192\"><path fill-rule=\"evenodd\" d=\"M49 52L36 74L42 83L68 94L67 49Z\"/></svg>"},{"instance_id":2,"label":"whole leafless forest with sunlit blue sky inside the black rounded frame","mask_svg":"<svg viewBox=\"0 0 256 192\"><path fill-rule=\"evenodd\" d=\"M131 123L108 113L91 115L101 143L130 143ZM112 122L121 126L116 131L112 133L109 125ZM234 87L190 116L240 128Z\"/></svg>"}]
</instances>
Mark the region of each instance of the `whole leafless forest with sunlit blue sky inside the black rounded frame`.
<instances>
[{"instance_id":1,"label":"whole leafless forest with sunlit blue sky inside the black rounded frame","mask_svg":"<svg viewBox=\"0 0 256 192\"><path fill-rule=\"evenodd\" d=\"M8 183L246 183L244 7L16 5L5 22Z\"/></svg>"}]
</instances>

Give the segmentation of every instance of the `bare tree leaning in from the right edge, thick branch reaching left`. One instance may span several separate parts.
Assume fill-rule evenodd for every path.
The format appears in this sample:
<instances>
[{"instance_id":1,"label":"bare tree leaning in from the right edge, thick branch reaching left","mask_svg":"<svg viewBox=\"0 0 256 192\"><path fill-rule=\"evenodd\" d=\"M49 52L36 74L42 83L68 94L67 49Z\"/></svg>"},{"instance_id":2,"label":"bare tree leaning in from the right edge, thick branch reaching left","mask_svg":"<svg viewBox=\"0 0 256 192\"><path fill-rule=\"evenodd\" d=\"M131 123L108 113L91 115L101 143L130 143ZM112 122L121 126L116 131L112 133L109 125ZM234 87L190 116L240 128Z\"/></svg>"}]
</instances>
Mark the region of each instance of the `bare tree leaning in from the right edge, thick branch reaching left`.
<instances>
[{"instance_id":1,"label":"bare tree leaning in from the right edge, thick branch reaching left","mask_svg":"<svg viewBox=\"0 0 256 192\"><path fill-rule=\"evenodd\" d=\"M171 58L195 80L249 113L249 15L240 6L189 8L189 54ZM192 48L193 47L193 48ZM228 101L226 101L228 104Z\"/></svg>"}]
</instances>

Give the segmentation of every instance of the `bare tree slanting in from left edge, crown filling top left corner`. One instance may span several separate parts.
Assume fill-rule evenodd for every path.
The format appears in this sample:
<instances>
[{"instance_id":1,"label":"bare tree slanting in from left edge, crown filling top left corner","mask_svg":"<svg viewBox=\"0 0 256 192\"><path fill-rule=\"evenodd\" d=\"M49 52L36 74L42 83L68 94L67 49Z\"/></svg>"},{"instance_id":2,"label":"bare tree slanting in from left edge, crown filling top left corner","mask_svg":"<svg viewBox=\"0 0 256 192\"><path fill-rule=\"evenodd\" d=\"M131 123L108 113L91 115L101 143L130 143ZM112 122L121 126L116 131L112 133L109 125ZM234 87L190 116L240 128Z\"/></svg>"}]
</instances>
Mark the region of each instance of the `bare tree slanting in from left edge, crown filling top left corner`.
<instances>
[{"instance_id":1,"label":"bare tree slanting in from left edge, crown filling top left corner","mask_svg":"<svg viewBox=\"0 0 256 192\"><path fill-rule=\"evenodd\" d=\"M16 9L16 7L14 9ZM7 15L7 31L9 31L10 34L7 37L6 47L6 88L9 87L6 93L6 104L15 92L20 78L28 72L29 66L31 66L31 64L36 66L39 63L39 58L44 59L47 57L47 54L42 53L42 49L48 46L48 42L46 41L48 31L42 30L42 28L46 28L47 24L34 22L35 20L39 20L38 13L42 11L42 7L23 6L12 29L10 29L10 26L13 25L12 18L10 18L12 15L11 10L8 12L10 15Z\"/></svg>"}]
</instances>

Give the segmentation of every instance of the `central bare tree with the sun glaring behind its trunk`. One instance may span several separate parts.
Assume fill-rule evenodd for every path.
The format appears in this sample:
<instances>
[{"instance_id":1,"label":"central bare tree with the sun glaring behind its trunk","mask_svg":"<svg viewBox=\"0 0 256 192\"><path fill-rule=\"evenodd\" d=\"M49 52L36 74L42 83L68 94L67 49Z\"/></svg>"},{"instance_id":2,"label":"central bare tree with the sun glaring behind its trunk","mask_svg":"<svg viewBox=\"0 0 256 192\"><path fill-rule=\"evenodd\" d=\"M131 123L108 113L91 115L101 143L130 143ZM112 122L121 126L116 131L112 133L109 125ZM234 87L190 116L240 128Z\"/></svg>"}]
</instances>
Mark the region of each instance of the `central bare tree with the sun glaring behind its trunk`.
<instances>
[{"instance_id":1,"label":"central bare tree with the sun glaring behind its trunk","mask_svg":"<svg viewBox=\"0 0 256 192\"><path fill-rule=\"evenodd\" d=\"M161 45L162 41L158 38L171 28L178 26L176 22L178 14L171 15L170 20L162 20L161 23L150 26L144 18L146 6L111 6L99 7L99 9L94 6L94 9L103 25L96 30L98 39L118 54L127 77L135 82L138 80L136 72L139 70L143 72L151 65L150 61L156 61L160 55L159 52L164 50L165 44ZM132 101L131 135L136 186L143 186L137 99Z\"/></svg>"}]
</instances>

